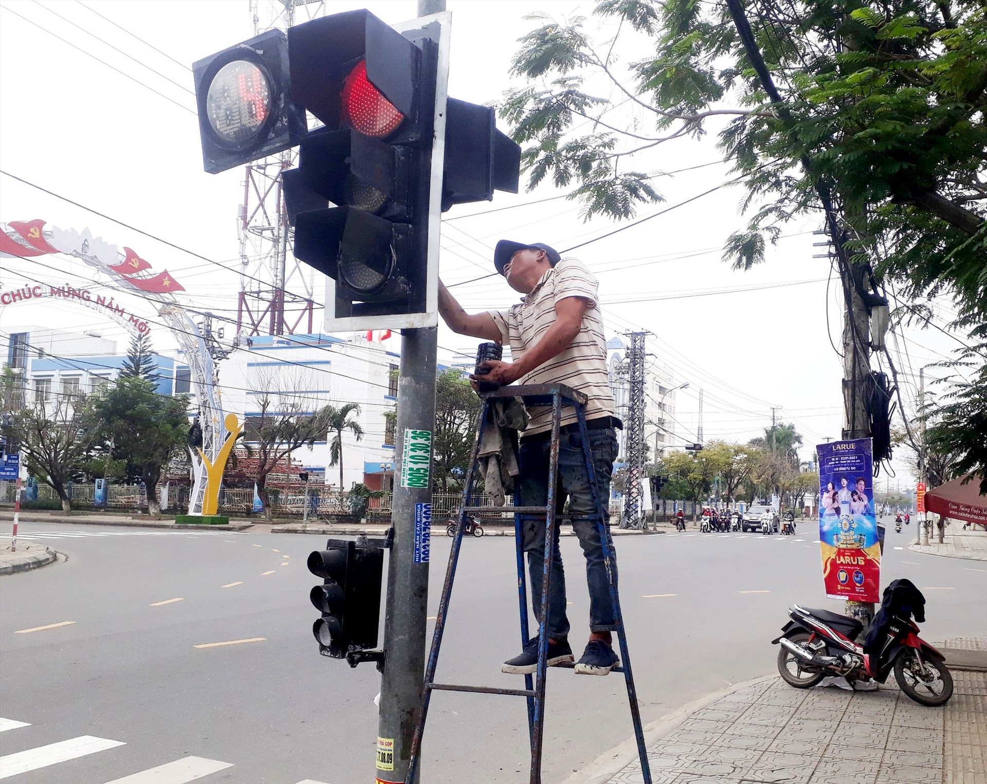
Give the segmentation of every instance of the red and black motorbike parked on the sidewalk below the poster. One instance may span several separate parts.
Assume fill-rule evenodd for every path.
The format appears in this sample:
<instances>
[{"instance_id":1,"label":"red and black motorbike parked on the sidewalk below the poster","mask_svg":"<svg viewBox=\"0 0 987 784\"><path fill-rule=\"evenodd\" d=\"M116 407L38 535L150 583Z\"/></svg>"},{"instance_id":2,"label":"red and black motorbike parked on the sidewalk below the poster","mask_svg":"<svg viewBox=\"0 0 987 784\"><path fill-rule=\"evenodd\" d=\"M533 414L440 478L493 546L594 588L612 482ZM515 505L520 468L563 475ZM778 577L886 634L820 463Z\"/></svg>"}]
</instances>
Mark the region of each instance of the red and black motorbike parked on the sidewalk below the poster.
<instances>
[{"instance_id":1,"label":"red and black motorbike parked on the sidewalk below the poster","mask_svg":"<svg viewBox=\"0 0 987 784\"><path fill-rule=\"evenodd\" d=\"M902 601L896 596L899 588L921 600ZM871 678L883 683L893 669L898 686L915 702L945 705L952 696L946 659L918 636L919 627L912 620L915 615L925 621L924 603L921 591L909 581L894 581L884 590L864 646L854 642L864 628L856 618L794 604L791 620L771 641L782 646L778 672L789 685L808 688L826 676L845 677L851 685Z\"/></svg>"}]
</instances>

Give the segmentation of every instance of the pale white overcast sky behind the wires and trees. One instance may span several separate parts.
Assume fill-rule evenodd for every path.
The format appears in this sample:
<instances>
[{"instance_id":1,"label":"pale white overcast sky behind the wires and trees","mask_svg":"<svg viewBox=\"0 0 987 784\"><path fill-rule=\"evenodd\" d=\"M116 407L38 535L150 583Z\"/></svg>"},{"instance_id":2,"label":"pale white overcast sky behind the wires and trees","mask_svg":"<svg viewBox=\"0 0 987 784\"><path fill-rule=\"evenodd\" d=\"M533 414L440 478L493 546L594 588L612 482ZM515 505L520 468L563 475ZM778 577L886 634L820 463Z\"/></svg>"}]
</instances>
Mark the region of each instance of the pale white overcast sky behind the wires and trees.
<instances>
[{"instance_id":1,"label":"pale white overcast sky behind the wires and trees","mask_svg":"<svg viewBox=\"0 0 987 784\"><path fill-rule=\"evenodd\" d=\"M0 169L83 205L0 175L0 221L41 218L62 228L88 227L110 243L133 248L155 271L167 268L187 289L183 303L235 318L243 169L219 175L202 171L188 66L253 35L247 0L84 2L0 0ZM448 0L453 15L449 94L474 103L498 101L519 84L508 75L517 39L538 24L524 15L540 9L556 17L589 17L592 5ZM264 12L272 4L262 0L261 6ZM398 23L413 18L417 4L339 0L329 6L332 13L366 7L385 22ZM587 24L599 28L592 19ZM599 39L613 30L599 28ZM647 48L645 39L623 40L618 61L645 56ZM613 92L602 82L590 87L603 97ZM721 185L729 176L715 163L720 157L711 133L659 145L635 161L634 168L648 173L714 164L658 178L665 203L642 207L638 217ZM518 196L498 194L490 204L446 213L440 262L445 282L491 272L493 245L501 237L546 242L562 251L620 227L601 218L583 223L578 205L565 198L503 209L562 195L551 186L531 193L522 189ZM828 319L839 345L839 291L829 285L827 314L829 263L812 258L821 249L812 248L813 239L820 238L812 236L819 226L811 221L790 224L767 264L732 272L721 261L721 246L744 225L738 212L742 196L737 187L721 188L572 255L599 276L608 337L650 331L652 361L690 383L678 396L680 434L695 435L702 388L707 440L761 434L770 424L771 406L780 406L780 418L795 422L802 433L806 458L811 445L840 434L841 360L826 334ZM495 211L477 214L488 210ZM4 288L33 280L78 286L87 278L92 279L89 268L64 257L0 260ZM315 290L322 291L321 281ZM516 301L498 277L453 291L468 310ZM128 309L152 323L157 319L150 304L124 298ZM946 305L941 312L948 318ZM10 332L29 325L100 330L118 340L121 351L125 343L120 328L85 308L43 301L0 307L4 344ZM908 330L904 339L895 356L908 374L905 400L911 406L919 368L948 357L957 344L936 330ZM175 346L163 326L155 329L155 341L162 349ZM476 343L443 326L440 358L451 350L472 354ZM927 377L942 373L929 368ZM895 462L902 484L910 484L903 461ZM883 488L883 477L877 484Z\"/></svg>"}]
</instances>

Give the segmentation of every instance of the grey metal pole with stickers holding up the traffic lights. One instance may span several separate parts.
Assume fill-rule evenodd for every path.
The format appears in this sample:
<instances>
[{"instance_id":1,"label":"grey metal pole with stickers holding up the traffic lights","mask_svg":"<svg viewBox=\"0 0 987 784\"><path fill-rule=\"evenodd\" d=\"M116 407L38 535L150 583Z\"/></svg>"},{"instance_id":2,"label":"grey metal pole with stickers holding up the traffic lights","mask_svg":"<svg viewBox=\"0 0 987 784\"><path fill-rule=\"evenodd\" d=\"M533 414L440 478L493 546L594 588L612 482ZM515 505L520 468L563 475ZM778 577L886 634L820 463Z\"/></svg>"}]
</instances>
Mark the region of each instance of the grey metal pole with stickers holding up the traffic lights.
<instances>
[{"instance_id":1,"label":"grey metal pole with stickers holding up the traffic lights","mask_svg":"<svg viewBox=\"0 0 987 784\"><path fill-rule=\"evenodd\" d=\"M445 0L418 0L419 17L442 11L445 11ZM437 237L435 244L438 244ZM404 442L409 431L431 433L435 428L437 352L437 327L402 330L396 479L402 475ZM395 483L391 507L394 544L387 568L387 614L384 619L386 660L381 675L377 722L378 748L382 744L390 745L394 769L375 767L375 780L378 782L402 782L408 775L412 736L418 723L424 682L428 563L415 563L415 525L417 511L428 510L430 516L430 476L429 482L422 488L403 487L403 484L400 480Z\"/></svg>"}]
</instances>

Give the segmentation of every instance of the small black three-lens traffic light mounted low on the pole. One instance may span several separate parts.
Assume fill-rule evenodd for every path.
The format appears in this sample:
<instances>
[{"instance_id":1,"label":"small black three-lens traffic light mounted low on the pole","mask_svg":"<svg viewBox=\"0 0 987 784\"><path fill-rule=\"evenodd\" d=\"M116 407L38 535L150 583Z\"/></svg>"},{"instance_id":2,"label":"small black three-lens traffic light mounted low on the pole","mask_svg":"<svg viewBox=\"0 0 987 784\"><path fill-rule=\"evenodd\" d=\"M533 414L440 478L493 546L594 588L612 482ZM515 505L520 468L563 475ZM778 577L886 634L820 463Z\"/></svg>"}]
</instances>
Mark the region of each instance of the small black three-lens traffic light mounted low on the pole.
<instances>
[{"instance_id":1,"label":"small black three-lens traffic light mounted low on the pole","mask_svg":"<svg viewBox=\"0 0 987 784\"><path fill-rule=\"evenodd\" d=\"M330 539L326 547L308 557L309 571L324 581L309 594L322 613L312 633L320 654L344 659L377 645L384 550L340 539Z\"/></svg>"}]
</instances>

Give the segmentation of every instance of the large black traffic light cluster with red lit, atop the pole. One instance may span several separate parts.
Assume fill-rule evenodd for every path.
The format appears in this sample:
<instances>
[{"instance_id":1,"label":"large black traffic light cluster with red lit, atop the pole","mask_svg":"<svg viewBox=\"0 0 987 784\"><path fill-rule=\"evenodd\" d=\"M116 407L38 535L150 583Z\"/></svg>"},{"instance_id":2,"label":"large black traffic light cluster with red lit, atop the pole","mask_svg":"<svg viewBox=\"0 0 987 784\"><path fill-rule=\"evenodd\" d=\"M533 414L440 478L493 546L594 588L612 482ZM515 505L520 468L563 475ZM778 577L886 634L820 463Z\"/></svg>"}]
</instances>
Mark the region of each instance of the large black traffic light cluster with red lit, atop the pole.
<instances>
[{"instance_id":1,"label":"large black traffic light cluster with red lit, atop the pole","mask_svg":"<svg viewBox=\"0 0 987 784\"><path fill-rule=\"evenodd\" d=\"M446 96L449 19L346 11L195 63L206 171L299 147L282 193L295 258L327 276L328 332L434 326L440 211L517 193L493 109Z\"/></svg>"}]
</instances>

